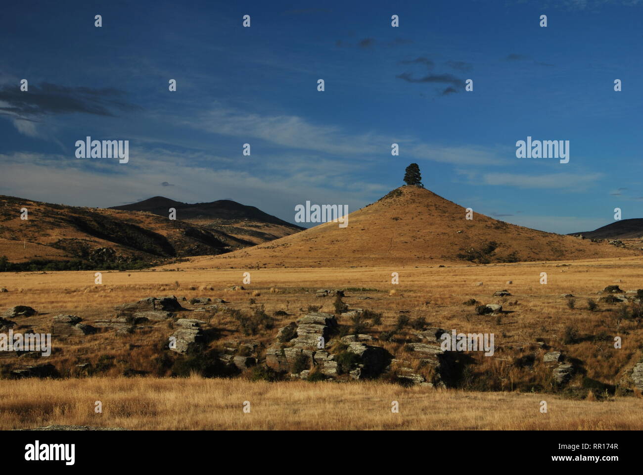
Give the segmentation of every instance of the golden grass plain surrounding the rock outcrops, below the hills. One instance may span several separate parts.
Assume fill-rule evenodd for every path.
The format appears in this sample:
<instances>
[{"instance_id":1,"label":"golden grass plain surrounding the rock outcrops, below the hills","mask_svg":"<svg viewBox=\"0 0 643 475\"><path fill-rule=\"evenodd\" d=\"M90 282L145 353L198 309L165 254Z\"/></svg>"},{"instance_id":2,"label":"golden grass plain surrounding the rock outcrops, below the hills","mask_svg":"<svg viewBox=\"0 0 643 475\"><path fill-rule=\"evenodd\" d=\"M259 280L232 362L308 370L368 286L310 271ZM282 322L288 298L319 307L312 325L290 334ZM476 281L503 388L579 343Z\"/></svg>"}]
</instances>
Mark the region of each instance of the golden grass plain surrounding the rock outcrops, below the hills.
<instances>
[{"instance_id":1,"label":"golden grass plain surrounding the rock outcrops, below the hills","mask_svg":"<svg viewBox=\"0 0 643 475\"><path fill-rule=\"evenodd\" d=\"M71 313L91 324L97 317L112 316L114 305L150 296L222 297L239 309L248 308L252 298L270 314L289 313L278 318L273 330L251 337L267 346L275 339L276 328L302 316L307 306L321 305L321 312L332 312L332 299L316 298L316 289L355 288L344 299L351 308L383 312L381 324L368 328L376 337L394 326L400 310L448 330L494 333L496 354L476 357L476 373L493 375L503 392L404 388L377 380L313 384L251 382L244 375L234 379L119 377L125 367L152 371L154 344L172 333L162 322L131 335L101 331L85 337L54 337L54 352L46 362L58 368L95 362L102 354L113 355L116 366L100 378L1 380L0 428L86 424L132 429L643 429L643 398L637 391L635 396L610 396L601 402L592 400L592 395L572 400L547 391L518 392L521 384L547 389L550 369L542 363L545 349L536 344L537 338L582 360L587 377L626 384L633 364L643 355L643 326L625 321L617 330L615 305L599 303L599 310L590 312L585 301L598 301L597 292L615 281L623 290L643 288L640 257L424 268L258 269L249 270L251 284L243 284L244 291L224 290L242 284L243 270L195 269L199 259L156 270L105 271L102 285L94 284L94 272L3 273L0 286L9 292L0 293L0 311L32 306L39 315L17 322L46 332L53 315ZM392 272L399 273L397 285L391 283ZM541 272L548 275L545 285L539 284ZM507 284L510 280L512 284ZM478 281L484 284L476 286ZM491 297L505 288L511 297ZM574 309L568 308L561 293L575 295ZM469 298L502 303L511 313L500 321L475 315L462 304ZM230 317L216 314L208 320L221 331L213 348L228 337L244 339ZM586 335L620 335L622 348L613 348L610 341L590 340L565 346L562 335L569 325ZM380 344L393 355L403 351L399 343ZM533 369L512 365L512 360L526 353L536 355ZM7 360L0 360L0 365L3 361ZM580 376L570 386L579 383ZM103 402L103 414L93 413L95 400ZM251 402L250 414L242 413L245 400ZM400 402L399 414L391 413L392 400ZM539 413L541 400L549 404L547 414Z\"/></svg>"}]
</instances>

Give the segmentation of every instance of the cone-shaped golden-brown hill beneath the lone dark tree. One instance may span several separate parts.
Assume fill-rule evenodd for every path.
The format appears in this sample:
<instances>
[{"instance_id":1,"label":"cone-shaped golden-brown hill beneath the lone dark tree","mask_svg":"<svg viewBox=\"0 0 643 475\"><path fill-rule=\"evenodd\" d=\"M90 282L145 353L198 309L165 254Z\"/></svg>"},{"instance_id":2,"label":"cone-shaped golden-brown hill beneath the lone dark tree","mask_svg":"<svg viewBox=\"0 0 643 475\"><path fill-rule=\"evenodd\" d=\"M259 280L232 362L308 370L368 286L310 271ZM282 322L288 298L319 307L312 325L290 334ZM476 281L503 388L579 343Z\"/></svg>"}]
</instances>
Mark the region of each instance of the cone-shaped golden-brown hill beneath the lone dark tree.
<instances>
[{"instance_id":1,"label":"cone-shaped golden-brown hill beneath the lone dark tree","mask_svg":"<svg viewBox=\"0 0 643 475\"><path fill-rule=\"evenodd\" d=\"M423 188L404 186L349 214L349 225L324 223L186 267L346 267L555 261L637 256L606 243L511 225L466 210Z\"/></svg>"}]
</instances>

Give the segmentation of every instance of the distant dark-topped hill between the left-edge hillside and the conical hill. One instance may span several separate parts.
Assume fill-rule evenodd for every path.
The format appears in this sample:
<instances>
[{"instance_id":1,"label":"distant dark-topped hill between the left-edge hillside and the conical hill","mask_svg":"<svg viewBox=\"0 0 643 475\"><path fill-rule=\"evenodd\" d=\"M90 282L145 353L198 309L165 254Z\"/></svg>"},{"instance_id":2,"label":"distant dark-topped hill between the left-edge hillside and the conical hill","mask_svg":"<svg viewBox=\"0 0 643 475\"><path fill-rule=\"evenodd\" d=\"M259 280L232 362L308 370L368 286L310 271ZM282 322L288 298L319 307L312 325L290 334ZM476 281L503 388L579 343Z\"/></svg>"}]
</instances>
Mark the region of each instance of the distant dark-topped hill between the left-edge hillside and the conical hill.
<instances>
[{"instance_id":1,"label":"distant dark-topped hill between the left-edge hillside and the conical hill","mask_svg":"<svg viewBox=\"0 0 643 475\"><path fill-rule=\"evenodd\" d=\"M251 244L265 243L303 230L302 227L287 223L256 207L231 200L190 204L154 196L148 200L114 206L111 209L146 211L167 218L170 208L176 209L176 218L181 221L217 230Z\"/></svg>"}]
</instances>

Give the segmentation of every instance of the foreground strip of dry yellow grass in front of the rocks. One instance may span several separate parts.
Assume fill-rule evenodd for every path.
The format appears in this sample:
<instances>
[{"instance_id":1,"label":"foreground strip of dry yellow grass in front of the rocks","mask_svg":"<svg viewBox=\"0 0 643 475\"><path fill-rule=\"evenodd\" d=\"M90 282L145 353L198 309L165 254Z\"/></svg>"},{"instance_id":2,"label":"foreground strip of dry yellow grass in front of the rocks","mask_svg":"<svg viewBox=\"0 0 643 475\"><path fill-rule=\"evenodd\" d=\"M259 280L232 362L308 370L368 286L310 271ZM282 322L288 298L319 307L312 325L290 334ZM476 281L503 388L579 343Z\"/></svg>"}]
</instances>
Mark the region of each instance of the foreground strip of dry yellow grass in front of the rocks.
<instances>
[{"instance_id":1,"label":"foreground strip of dry yellow grass in front of the rocks","mask_svg":"<svg viewBox=\"0 0 643 475\"><path fill-rule=\"evenodd\" d=\"M86 378L0 386L0 429L53 424L127 429L640 430L640 398L570 401L390 384L243 379ZM95 401L103 413L95 413ZM541 400L547 413L539 411ZM250 412L244 413L244 402ZM392 402L399 413L392 413Z\"/></svg>"}]
</instances>

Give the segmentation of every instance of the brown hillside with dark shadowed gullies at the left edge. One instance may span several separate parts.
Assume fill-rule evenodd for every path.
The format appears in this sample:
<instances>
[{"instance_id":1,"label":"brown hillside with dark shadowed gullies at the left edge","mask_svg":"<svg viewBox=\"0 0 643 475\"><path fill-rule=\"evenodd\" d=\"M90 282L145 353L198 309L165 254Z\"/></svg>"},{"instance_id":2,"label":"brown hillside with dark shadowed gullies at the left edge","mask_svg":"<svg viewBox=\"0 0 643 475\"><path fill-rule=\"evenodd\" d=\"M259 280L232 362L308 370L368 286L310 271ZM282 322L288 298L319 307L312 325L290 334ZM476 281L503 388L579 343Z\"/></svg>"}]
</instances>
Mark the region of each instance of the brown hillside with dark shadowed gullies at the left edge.
<instances>
[{"instance_id":1,"label":"brown hillside with dark shadowed gullies at the left edge","mask_svg":"<svg viewBox=\"0 0 643 475\"><path fill-rule=\"evenodd\" d=\"M21 219L22 208L28 219ZM0 196L0 256L14 263L80 259L91 265L151 263L252 245L216 229L149 212L71 207Z\"/></svg>"}]
</instances>

